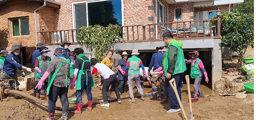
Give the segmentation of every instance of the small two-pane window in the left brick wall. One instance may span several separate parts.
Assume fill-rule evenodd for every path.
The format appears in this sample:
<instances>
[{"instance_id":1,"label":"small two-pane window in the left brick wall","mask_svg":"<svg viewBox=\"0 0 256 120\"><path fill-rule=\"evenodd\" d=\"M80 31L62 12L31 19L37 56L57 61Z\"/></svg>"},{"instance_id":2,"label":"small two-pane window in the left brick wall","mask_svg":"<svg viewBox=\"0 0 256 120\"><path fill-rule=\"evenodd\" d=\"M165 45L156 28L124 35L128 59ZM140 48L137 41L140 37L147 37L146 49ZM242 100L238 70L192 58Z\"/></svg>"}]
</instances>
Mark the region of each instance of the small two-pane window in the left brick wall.
<instances>
[{"instance_id":1,"label":"small two-pane window in the left brick wall","mask_svg":"<svg viewBox=\"0 0 256 120\"><path fill-rule=\"evenodd\" d=\"M11 35L12 36L28 36L29 35L28 18L11 19Z\"/></svg>"}]
</instances>

